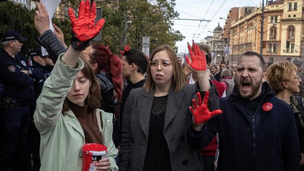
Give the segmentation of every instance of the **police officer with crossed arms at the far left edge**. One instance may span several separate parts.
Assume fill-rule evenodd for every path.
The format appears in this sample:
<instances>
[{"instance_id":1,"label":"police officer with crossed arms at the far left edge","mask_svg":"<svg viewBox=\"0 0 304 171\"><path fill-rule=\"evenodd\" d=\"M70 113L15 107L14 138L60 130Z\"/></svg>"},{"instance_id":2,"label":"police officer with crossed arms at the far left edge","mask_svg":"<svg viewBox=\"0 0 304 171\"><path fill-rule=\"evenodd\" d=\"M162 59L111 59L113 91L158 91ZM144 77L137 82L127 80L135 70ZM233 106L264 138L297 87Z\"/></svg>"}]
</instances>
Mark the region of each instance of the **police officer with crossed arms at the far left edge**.
<instances>
[{"instance_id":1,"label":"police officer with crossed arms at the far left edge","mask_svg":"<svg viewBox=\"0 0 304 171\"><path fill-rule=\"evenodd\" d=\"M3 34L0 49L0 82L3 84L0 111L0 169L22 170L30 102L35 79L29 75L27 60L18 54L28 39L17 31Z\"/></svg>"}]
</instances>

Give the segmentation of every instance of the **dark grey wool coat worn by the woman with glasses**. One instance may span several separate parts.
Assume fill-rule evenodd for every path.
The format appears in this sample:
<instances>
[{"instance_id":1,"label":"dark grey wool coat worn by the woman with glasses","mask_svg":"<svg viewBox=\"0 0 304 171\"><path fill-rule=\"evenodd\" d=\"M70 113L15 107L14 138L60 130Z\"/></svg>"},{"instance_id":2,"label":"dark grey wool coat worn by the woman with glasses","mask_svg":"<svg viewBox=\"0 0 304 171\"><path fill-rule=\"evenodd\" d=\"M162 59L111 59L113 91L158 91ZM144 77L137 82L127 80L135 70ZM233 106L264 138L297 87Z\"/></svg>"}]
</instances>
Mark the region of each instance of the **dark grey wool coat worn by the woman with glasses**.
<instances>
[{"instance_id":1,"label":"dark grey wool coat worn by the woman with glasses","mask_svg":"<svg viewBox=\"0 0 304 171\"><path fill-rule=\"evenodd\" d=\"M219 109L215 86L210 82L208 108ZM172 171L202 171L199 150L202 148L202 134L193 134L191 106L199 88L196 84L185 85L174 94L169 90L164 120L163 135L170 152ZM203 99L205 92L200 92ZM120 171L142 171L149 138L149 124L154 91L148 93L144 88L130 92L122 116L122 135L119 157Z\"/></svg>"}]
</instances>

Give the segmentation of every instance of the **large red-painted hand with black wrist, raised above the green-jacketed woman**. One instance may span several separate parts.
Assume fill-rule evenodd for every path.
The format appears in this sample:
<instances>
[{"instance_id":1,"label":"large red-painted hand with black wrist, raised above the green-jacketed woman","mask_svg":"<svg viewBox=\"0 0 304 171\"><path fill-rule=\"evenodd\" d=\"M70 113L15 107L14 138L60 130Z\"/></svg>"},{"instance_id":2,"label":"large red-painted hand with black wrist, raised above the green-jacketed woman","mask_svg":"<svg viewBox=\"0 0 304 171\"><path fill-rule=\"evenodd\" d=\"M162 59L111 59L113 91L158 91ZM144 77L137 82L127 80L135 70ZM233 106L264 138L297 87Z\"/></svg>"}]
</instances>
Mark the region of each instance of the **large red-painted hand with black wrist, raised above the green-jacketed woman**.
<instances>
[{"instance_id":1,"label":"large red-painted hand with black wrist, raised above the green-jacketed woman","mask_svg":"<svg viewBox=\"0 0 304 171\"><path fill-rule=\"evenodd\" d=\"M105 19L100 19L96 26L96 3L91 5L90 0L79 4L79 17L76 19L73 8L69 8L69 15L72 24L71 45L76 49L85 49L85 45L94 38L105 24ZM82 45L85 44L85 45Z\"/></svg>"}]
</instances>

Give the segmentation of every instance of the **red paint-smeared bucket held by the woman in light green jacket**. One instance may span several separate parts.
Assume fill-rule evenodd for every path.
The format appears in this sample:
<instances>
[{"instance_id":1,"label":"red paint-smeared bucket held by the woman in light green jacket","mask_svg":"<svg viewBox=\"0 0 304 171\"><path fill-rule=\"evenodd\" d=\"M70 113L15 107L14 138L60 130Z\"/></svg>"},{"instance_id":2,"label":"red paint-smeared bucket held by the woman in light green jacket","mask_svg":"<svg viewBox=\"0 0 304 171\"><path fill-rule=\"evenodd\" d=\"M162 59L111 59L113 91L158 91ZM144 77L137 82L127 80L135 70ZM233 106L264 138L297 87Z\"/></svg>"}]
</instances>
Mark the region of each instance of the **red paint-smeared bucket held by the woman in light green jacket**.
<instances>
[{"instance_id":1,"label":"red paint-smeared bucket held by the woman in light green jacket","mask_svg":"<svg viewBox=\"0 0 304 171\"><path fill-rule=\"evenodd\" d=\"M96 171L93 164L106 156L108 149L98 143L88 143L82 146L82 171Z\"/></svg>"}]
</instances>

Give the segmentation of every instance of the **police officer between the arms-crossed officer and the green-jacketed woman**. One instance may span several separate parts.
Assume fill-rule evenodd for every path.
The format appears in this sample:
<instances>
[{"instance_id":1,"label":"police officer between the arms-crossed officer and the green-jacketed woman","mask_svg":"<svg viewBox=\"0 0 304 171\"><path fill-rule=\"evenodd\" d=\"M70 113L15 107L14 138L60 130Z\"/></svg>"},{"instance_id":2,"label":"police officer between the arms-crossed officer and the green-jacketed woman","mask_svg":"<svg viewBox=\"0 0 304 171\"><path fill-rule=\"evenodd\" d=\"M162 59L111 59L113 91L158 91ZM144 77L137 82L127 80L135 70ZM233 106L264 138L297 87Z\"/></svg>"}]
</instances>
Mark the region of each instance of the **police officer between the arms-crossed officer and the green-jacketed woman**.
<instances>
[{"instance_id":1,"label":"police officer between the arms-crossed officer and the green-jacketed woman","mask_svg":"<svg viewBox=\"0 0 304 171\"><path fill-rule=\"evenodd\" d=\"M40 159L39 159L39 144L40 136L37 128L34 124L34 112L36 110L36 101L41 94L43 83L46 78L50 75L50 72L46 68L47 59L46 56L43 56L41 53L41 47L37 47L30 52L30 57L32 59L31 70L29 70L29 75L35 78L35 95L34 100L31 103L30 107L30 124L27 134L26 142L26 153L25 153L25 171L39 171L40 168ZM33 156L31 158L31 156ZM33 169L32 161L33 160Z\"/></svg>"}]
</instances>

